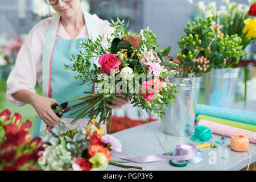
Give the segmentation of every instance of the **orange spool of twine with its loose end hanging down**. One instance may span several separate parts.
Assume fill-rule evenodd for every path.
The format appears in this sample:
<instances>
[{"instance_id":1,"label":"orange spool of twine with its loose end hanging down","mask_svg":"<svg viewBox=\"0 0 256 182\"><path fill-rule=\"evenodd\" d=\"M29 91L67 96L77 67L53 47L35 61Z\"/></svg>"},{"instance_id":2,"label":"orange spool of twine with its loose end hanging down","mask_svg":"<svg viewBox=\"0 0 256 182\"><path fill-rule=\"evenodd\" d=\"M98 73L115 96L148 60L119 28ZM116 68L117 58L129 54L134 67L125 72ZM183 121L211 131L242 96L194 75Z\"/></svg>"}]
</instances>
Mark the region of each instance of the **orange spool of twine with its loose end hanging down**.
<instances>
[{"instance_id":1,"label":"orange spool of twine with its loose end hanging down","mask_svg":"<svg viewBox=\"0 0 256 182\"><path fill-rule=\"evenodd\" d=\"M236 152L247 152L249 154L249 163L247 166L247 171L249 171L251 154L248 151L249 139L245 135L233 135L230 140L230 147Z\"/></svg>"}]
</instances>

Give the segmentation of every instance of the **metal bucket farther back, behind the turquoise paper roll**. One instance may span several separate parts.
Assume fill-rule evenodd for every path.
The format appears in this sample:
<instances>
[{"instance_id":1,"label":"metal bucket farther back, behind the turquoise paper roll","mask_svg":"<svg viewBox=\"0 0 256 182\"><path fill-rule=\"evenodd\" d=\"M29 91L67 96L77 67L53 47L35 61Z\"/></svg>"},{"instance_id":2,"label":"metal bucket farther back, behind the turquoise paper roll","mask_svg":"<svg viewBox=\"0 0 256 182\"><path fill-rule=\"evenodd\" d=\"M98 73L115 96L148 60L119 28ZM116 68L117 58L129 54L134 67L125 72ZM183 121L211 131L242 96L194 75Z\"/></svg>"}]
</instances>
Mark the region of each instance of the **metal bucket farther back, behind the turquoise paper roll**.
<instances>
[{"instance_id":1,"label":"metal bucket farther back, behind the turquoise paper roll","mask_svg":"<svg viewBox=\"0 0 256 182\"><path fill-rule=\"evenodd\" d=\"M222 68L205 74L206 104L232 108L240 73L241 68Z\"/></svg>"}]
</instances>

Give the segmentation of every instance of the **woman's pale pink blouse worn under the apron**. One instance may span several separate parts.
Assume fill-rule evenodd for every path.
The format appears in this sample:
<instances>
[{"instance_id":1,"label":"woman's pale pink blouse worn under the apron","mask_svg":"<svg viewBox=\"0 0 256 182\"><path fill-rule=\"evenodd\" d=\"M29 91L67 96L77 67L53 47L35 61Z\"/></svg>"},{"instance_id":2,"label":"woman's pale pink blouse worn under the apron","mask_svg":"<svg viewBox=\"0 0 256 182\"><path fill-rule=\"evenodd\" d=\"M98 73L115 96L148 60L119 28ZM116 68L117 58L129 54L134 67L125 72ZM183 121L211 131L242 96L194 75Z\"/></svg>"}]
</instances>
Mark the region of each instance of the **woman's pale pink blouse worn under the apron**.
<instances>
[{"instance_id":1,"label":"woman's pale pink blouse worn under the apron","mask_svg":"<svg viewBox=\"0 0 256 182\"><path fill-rule=\"evenodd\" d=\"M109 26L108 20L102 20L97 15L93 15L98 33L104 35L103 46L107 46L106 37L111 34L114 29ZM20 90L27 89L35 93L36 81L42 88L42 56L43 45L48 30L49 24L53 17L43 19L29 32L25 42L23 43L18 53L14 69L11 71L7 80L6 97L7 100L16 106L25 105L24 102L16 101L13 94ZM57 38L70 39L67 31L60 23L57 31ZM77 39L88 38L86 26L84 26L77 36Z\"/></svg>"}]
</instances>

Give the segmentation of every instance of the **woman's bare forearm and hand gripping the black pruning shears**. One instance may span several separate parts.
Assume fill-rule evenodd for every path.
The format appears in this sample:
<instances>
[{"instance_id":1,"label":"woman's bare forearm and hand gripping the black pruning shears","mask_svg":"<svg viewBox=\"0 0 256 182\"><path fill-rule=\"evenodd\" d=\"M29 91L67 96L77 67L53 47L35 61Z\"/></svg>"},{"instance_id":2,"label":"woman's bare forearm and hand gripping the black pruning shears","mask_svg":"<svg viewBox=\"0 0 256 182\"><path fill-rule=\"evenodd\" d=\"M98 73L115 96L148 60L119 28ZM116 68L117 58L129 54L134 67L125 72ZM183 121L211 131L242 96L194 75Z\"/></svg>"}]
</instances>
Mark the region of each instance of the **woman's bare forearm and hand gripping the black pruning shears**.
<instances>
[{"instance_id":1,"label":"woman's bare forearm and hand gripping the black pruning shears","mask_svg":"<svg viewBox=\"0 0 256 182\"><path fill-rule=\"evenodd\" d=\"M59 123L60 118L52 111L51 104L57 101L53 98L43 97L39 94L32 93L29 90L20 90L13 94L15 100L30 104L35 108L39 117L48 125L55 126Z\"/></svg>"}]
</instances>

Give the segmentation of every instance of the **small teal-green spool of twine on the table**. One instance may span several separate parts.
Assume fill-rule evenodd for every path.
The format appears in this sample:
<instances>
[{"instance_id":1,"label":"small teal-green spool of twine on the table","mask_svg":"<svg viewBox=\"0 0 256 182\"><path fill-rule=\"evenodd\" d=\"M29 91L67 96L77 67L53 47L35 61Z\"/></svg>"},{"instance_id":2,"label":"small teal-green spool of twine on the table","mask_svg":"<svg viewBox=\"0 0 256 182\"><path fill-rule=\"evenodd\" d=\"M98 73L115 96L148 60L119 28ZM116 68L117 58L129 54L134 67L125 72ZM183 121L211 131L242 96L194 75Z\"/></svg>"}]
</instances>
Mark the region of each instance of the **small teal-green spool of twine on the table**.
<instances>
[{"instance_id":1,"label":"small teal-green spool of twine on the table","mask_svg":"<svg viewBox=\"0 0 256 182\"><path fill-rule=\"evenodd\" d=\"M201 141L209 141L212 139L212 131L207 126L197 126L191 140L197 140L200 143Z\"/></svg>"}]
</instances>

